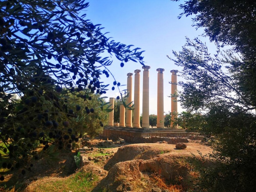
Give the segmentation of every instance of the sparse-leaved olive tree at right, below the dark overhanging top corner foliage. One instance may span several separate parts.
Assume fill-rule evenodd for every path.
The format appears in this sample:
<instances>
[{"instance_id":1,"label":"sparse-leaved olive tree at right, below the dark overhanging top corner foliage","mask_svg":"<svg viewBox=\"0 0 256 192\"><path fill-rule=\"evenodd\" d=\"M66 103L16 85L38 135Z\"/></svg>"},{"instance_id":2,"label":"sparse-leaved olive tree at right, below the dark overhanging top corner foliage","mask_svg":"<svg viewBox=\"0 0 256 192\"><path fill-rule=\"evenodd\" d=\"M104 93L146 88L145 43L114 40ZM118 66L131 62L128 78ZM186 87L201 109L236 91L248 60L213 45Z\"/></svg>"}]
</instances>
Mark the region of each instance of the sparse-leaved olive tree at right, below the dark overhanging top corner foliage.
<instances>
[{"instance_id":1,"label":"sparse-leaved olive tree at right, below the dark overhanging top corner foliage","mask_svg":"<svg viewBox=\"0 0 256 192\"><path fill-rule=\"evenodd\" d=\"M240 92L240 82L232 70L227 68L229 73L222 70L239 59L230 52L221 54L218 44L217 53L211 57L206 45L197 38L193 41L187 38L182 51L173 54L175 59L172 60L183 68L180 74L186 80L178 83L183 90L179 92L182 107L203 113L197 116L199 121L197 125L191 124L191 128L218 139L210 157L225 164L216 168L224 172L221 176L214 175L218 174L216 171L206 170L208 184L204 179L200 180L199 190L205 189L206 185L207 191L254 189L255 180L250 178L256 171L251 166L256 164L256 116L251 113L255 107ZM224 167L232 167L233 172L223 170ZM227 183L223 189L219 188L221 183Z\"/></svg>"}]
</instances>

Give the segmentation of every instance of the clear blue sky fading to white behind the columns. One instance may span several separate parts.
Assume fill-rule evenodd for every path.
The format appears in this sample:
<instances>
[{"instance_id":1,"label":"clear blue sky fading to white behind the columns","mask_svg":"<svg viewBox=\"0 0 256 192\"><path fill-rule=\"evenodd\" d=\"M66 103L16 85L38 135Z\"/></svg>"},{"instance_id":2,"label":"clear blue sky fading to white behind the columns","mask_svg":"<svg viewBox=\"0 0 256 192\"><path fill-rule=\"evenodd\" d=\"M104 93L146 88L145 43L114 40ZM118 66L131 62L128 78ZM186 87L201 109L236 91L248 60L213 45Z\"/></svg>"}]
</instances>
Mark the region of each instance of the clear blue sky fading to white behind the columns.
<instances>
[{"instance_id":1,"label":"clear blue sky fading to white behind the columns","mask_svg":"<svg viewBox=\"0 0 256 192\"><path fill-rule=\"evenodd\" d=\"M171 110L170 95L171 70L181 70L169 60L166 55L172 56L172 50L180 51L185 44L185 36L190 39L198 37L203 33L203 29L196 30L192 27L191 17L183 16L178 19L177 16L182 12L179 9L180 2L170 0L94 0L90 1L87 8L87 19L94 24L101 24L105 29L103 32L110 32L106 36L113 37L116 42L126 45L134 45L144 50L145 65L149 65L149 84L150 84L150 106L149 113L157 114L157 68L163 68L164 71L164 112ZM200 37L209 45L206 38ZM209 49L215 51L214 46ZM120 61L114 59L109 70L115 76L121 85L127 84L127 73L133 73L134 70L141 70L141 100L142 106L142 66L139 63L129 61L123 68L120 67ZM101 79L105 84L110 84L107 94L108 97L116 97L117 90L112 91L113 78ZM181 80L178 77L178 80ZM133 75L134 84L134 75ZM122 87L126 89L126 86ZM178 87L179 89L179 87ZM141 113L142 113L142 109ZM183 109L178 107L178 111Z\"/></svg>"}]
</instances>

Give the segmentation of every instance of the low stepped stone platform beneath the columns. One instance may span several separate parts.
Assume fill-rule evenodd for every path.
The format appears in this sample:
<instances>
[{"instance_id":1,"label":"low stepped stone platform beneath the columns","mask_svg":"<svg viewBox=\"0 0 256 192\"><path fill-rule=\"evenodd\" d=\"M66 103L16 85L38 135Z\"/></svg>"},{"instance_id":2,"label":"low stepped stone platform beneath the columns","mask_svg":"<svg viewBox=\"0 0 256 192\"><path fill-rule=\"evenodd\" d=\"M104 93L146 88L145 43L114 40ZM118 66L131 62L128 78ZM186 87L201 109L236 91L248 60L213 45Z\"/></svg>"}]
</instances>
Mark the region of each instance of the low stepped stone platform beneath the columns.
<instances>
[{"instance_id":1,"label":"low stepped stone platform beneath the columns","mask_svg":"<svg viewBox=\"0 0 256 192\"><path fill-rule=\"evenodd\" d=\"M189 133L183 129L175 128L134 128L134 127L118 127L108 126L104 127L104 130L99 136L108 139L122 138L127 142L135 142L142 137L175 137L182 136L187 137Z\"/></svg>"}]
</instances>

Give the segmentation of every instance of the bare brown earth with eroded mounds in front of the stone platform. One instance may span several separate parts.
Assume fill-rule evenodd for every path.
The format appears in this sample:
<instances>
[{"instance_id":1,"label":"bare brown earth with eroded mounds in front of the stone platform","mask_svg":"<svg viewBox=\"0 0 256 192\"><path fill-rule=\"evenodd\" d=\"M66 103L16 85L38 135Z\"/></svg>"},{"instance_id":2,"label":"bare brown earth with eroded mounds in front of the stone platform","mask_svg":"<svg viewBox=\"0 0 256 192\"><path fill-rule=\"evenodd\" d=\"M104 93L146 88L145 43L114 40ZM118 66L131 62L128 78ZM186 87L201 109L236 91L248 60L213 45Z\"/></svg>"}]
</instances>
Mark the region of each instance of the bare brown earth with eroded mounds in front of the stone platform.
<instances>
[{"instance_id":1,"label":"bare brown earth with eroded mounds in front of the stone platform","mask_svg":"<svg viewBox=\"0 0 256 192\"><path fill-rule=\"evenodd\" d=\"M104 143L106 146L111 143L110 146L112 147L102 148L99 143ZM192 170L186 158L192 157L191 153L199 157L198 151L203 155L212 152L212 148L199 141L190 141L186 145L186 149L177 150L175 144L164 142L124 145L111 140L107 140L107 142L102 139L85 140L81 142L80 147L88 146L91 148L83 154L88 158L88 163L82 167L82 170L99 178L94 183L93 192L101 190L148 191L149 187L160 186L162 186L161 189L181 192L186 186L183 180L187 181L190 178ZM37 177L36 179L39 180L32 182L26 191L41 192L43 189L38 190L39 185L49 182L65 183L68 178L72 178L76 174L75 171L79 171L76 169L74 161L76 154L75 151L62 152L59 154L61 160L57 161L47 158L38 161L33 160L30 162L33 164L33 172L21 175L16 171L15 175L10 174L9 179L32 182ZM99 161L95 159L99 159ZM21 170L18 171L21 172ZM172 185L167 185L167 182ZM171 186L175 187L171 188ZM63 190L56 188L53 192L55 191Z\"/></svg>"}]
</instances>

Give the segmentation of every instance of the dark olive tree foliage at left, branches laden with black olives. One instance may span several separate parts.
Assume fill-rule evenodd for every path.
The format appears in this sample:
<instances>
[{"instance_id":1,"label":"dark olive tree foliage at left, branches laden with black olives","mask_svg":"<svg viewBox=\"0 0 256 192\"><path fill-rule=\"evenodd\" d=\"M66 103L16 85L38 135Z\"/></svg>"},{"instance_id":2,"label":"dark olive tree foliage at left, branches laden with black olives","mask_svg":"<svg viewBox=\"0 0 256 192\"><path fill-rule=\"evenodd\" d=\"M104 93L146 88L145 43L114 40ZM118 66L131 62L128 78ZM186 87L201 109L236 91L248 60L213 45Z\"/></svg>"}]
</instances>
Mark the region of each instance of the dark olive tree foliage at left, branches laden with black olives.
<instances>
[{"instance_id":1,"label":"dark olive tree foliage at left, branches laden with black olives","mask_svg":"<svg viewBox=\"0 0 256 192\"><path fill-rule=\"evenodd\" d=\"M78 140L71 122L96 109L65 103L72 95L90 100L93 93L106 93L100 77L111 75L112 59L101 53L115 55L121 66L130 60L143 64L139 48L107 38L87 19L88 6L84 0L0 2L0 150L10 158L7 169L23 167L25 174L25 162L39 157L35 142L47 152L69 149ZM88 120L103 126L99 117Z\"/></svg>"}]
</instances>

